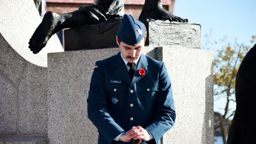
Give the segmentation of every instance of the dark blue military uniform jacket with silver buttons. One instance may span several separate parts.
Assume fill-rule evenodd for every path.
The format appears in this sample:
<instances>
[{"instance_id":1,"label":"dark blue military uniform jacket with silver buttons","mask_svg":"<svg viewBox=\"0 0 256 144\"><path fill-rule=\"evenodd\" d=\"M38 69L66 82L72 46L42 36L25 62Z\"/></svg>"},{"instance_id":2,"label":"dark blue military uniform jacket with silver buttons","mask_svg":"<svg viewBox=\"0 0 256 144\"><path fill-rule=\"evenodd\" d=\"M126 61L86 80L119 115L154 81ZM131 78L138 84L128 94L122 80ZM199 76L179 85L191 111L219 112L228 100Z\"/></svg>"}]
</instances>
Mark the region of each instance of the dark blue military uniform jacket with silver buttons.
<instances>
[{"instance_id":1,"label":"dark blue military uniform jacket with silver buttons","mask_svg":"<svg viewBox=\"0 0 256 144\"><path fill-rule=\"evenodd\" d=\"M140 75L139 69L144 69L145 74ZM113 139L133 126L141 126L154 136L142 144L160 144L176 118L164 62L143 53L132 80L120 52L97 61L87 104L88 117L98 129L98 144L127 144Z\"/></svg>"}]
</instances>

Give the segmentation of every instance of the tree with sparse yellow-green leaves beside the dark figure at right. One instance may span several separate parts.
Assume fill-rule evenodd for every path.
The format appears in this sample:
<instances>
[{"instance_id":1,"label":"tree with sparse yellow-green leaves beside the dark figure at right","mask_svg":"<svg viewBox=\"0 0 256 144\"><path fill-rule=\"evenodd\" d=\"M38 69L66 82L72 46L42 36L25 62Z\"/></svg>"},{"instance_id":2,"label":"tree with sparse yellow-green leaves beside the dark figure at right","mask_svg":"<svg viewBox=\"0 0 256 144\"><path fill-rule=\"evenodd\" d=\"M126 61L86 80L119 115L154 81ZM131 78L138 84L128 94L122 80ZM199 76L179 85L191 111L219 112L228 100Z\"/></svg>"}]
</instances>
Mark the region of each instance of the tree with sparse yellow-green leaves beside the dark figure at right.
<instances>
[{"instance_id":1,"label":"tree with sparse yellow-green leaves beside the dark figure at right","mask_svg":"<svg viewBox=\"0 0 256 144\"><path fill-rule=\"evenodd\" d=\"M252 44L255 42L256 36L252 36L250 41ZM224 42L225 39L220 39L220 42L215 42L219 44ZM216 113L214 118L214 125L216 130L220 130L223 144L226 144L226 136L228 134L228 129L231 125L232 120L229 120L235 113L235 111L230 110L230 102L235 102L235 80L236 74L239 66L248 52L251 46L245 45L244 43L239 44L235 40L234 44L231 46L229 43L217 49L213 60L213 84L214 84L214 98L225 98L226 104L223 108L224 114ZM218 123L216 123L218 120Z\"/></svg>"}]
</instances>

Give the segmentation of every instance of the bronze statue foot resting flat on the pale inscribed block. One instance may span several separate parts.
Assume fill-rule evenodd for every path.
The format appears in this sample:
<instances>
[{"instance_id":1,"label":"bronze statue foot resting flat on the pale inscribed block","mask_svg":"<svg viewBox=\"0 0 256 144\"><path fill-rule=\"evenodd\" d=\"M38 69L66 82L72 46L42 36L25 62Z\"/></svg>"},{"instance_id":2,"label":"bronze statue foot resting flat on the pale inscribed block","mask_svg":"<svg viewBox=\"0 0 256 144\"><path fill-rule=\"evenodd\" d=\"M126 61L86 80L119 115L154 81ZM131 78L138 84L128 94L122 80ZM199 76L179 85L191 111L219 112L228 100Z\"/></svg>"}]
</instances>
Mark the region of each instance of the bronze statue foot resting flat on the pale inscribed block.
<instances>
[{"instance_id":1,"label":"bronze statue foot resting flat on the pale inscribed block","mask_svg":"<svg viewBox=\"0 0 256 144\"><path fill-rule=\"evenodd\" d=\"M139 20L146 20L146 19L154 19L154 20L169 20L169 21L176 21L176 22L188 22L188 19L183 19L181 17L175 16L169 11L156 7L154 9L147 9L143 10L140 13Z\"/></svg>"}]
</instances>

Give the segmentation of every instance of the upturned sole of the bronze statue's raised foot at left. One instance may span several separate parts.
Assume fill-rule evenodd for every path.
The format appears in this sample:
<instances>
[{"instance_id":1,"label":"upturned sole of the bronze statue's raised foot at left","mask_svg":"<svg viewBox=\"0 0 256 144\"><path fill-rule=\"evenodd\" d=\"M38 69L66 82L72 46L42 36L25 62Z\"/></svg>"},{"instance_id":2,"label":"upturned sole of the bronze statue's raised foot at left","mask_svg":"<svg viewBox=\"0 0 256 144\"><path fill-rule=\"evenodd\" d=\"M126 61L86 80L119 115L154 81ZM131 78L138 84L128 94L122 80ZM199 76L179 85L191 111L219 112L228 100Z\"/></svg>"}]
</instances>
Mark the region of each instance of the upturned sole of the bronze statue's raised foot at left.
<instances>
[{"instance_id":1,"label":"upturned sole of the bronze statue's raised foot at left","mask_svg":"<svg viewBox=\"0 0 256 144\"><path fill-rule=\"evenodd\" d=\"M33 51L34 54L41 51L53 35L54 27L53 12L49 11L44 15L42 22L29 40L30 51Z\"/></svg>"}]
</instances>

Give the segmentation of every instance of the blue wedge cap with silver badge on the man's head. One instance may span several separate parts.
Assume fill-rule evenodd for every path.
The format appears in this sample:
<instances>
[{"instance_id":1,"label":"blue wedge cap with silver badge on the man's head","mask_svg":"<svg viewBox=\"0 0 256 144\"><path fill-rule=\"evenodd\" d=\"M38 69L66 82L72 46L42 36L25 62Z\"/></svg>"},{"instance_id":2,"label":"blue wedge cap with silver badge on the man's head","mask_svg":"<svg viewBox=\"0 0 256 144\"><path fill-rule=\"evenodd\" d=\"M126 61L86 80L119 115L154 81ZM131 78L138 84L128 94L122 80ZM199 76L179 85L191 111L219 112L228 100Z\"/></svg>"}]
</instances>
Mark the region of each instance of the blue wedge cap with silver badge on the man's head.
<instances>
[{"instance_id":1,"label":"blue wedge cap with silver badge on the man's head","mask_svg":"<svg viewBox=\"0 0 256 144\"><path fill-rule=\"evenodd\" d=\"M131 15L125 14L117 30L119 40L127 45L136 46L145 34L145 25Z\"/></svg>"}]
</instances>

